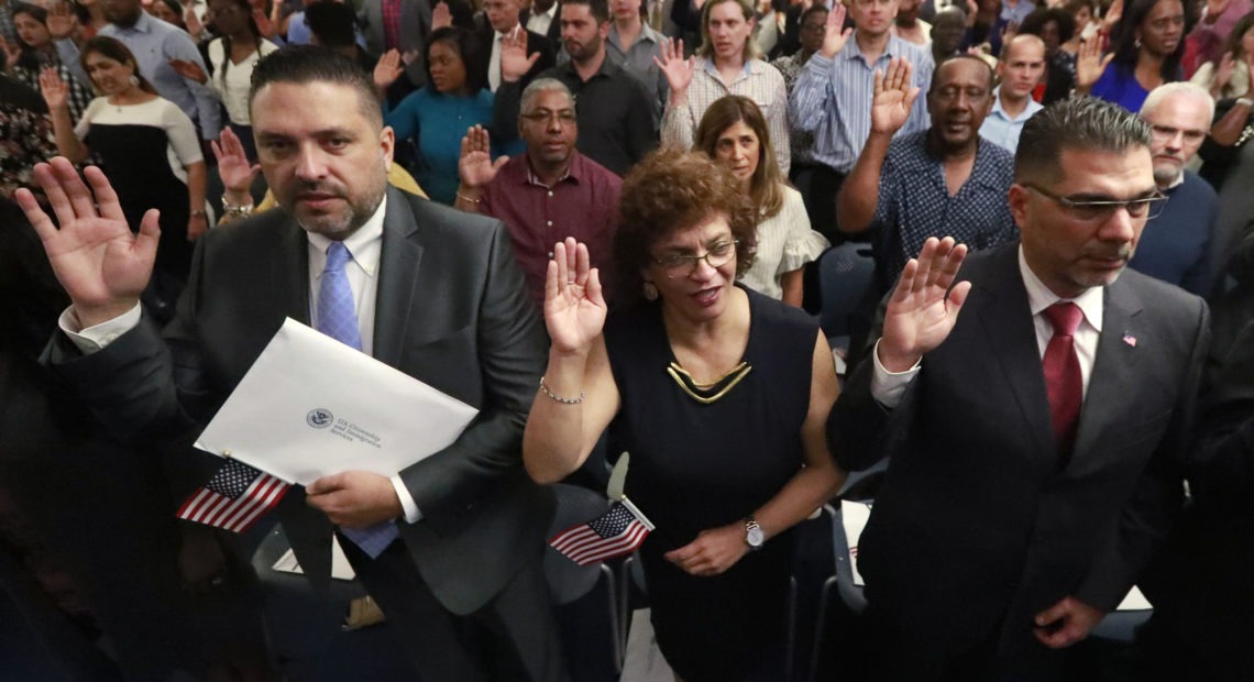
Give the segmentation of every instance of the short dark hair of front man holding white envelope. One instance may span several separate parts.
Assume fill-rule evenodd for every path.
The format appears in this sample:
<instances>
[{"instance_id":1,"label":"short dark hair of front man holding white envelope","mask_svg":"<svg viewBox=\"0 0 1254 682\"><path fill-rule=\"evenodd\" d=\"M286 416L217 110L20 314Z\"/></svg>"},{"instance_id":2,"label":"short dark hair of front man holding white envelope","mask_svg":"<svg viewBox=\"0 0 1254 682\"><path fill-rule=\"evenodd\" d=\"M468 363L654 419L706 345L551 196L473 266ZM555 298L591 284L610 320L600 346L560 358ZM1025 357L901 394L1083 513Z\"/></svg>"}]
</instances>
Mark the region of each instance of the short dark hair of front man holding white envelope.
<instances>
[{"instance_id":1,"label":"short dark hair of front man holding white envelope","mask_svg":"<svg viewBox=\"0 0 1254 682\"><path fill-rule=\"evenodd\" d=\"M257 93L271 83L335 83L357 92L362 115L384 124L384 113L375 94L374 76L347 56L321 45L286 45L261 58L252 69L248 109Z\"/></svg>"}]
</instances>

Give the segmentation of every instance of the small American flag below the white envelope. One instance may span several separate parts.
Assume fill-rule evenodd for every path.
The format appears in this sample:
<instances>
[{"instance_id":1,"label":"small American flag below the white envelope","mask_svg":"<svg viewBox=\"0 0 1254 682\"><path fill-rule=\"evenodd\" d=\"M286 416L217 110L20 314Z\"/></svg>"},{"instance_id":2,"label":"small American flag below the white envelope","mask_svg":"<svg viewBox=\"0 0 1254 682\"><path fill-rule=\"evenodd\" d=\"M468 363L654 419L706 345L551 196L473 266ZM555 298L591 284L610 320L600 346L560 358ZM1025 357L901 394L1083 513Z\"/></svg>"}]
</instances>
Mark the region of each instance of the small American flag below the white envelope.
<instances>
[{"instance_id":1,"label":"small American flag below the white envelope","mask_svg":"<svg viewBox=\"0 0 1254 682\"><path fill-rule=\"evenodd\" d=\"M178 518L243 533L266 512L273 509L288 485L242 461L228 459L178 509Z\"/></svg>"}]
</instances>

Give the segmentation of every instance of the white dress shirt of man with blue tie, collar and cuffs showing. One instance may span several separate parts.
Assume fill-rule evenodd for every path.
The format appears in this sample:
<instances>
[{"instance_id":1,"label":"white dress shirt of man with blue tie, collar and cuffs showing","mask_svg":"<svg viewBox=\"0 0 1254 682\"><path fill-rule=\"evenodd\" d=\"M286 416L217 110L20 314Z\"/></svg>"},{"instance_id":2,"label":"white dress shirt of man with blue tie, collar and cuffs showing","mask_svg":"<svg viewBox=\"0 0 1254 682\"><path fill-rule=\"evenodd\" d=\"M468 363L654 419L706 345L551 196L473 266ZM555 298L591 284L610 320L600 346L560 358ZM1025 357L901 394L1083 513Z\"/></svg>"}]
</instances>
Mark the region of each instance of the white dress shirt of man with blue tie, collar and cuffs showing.
<instances>
[{"instance_id":1,"label":"white dress shirt of man with blue tie, collar and cuffs showing","mask_svg":"<svg viewBox=\"0 0 1254 682\"><path fill-rule=\"evenodd\" d=\"M357 331L361 335L361 352L370 355L375 341L375 303L379 300L379 260L382 253L384 216L387 211L387 197L379 202L375 213L344 241L352 258L345 265L344 272L352 288L352 301L357 311ZM317 326L317 297L319 283L322 280L322 271L326 270L326 249L331 246L331 239L312 232L305 233L307 237L308 262L310 262L310 320ZM100 322L99 325L82 328L74 307L69 307L60 317L61 331L69 336L70 341L83 354L93 354L112 344L115 338L130 331L140 320L140 307ZM418 509L418 503L405 488L399 475L391 476L393 488L405 510L408 523L418 523L423 519L423 513Z\"/></svg>"}]
</instances>

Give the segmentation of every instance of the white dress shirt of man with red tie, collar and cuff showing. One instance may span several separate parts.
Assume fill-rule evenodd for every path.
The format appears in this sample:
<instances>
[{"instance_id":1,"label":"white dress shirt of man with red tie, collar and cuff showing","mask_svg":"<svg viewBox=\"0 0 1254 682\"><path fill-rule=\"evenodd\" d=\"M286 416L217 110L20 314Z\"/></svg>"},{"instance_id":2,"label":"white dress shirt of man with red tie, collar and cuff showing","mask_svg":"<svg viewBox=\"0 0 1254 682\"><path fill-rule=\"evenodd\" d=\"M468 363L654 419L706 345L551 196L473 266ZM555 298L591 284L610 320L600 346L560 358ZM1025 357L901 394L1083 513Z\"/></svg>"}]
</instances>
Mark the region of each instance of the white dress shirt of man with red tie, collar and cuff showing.
<instances>
[{"instance_id":1,"label":"white dress shirt of man with red tie, collar and cuff showing","mask_svg":"<svg viewBox=\"0 0 1254 682\"><path fill-rule=\"evenodd\" d=\"M1045 360L1045 349L1053 337L1053 325L1045 316L1045 308L1060 302L1070 301L1080 307L1085 318L1076 328L1075 347L1080 359L1080 376L1083 380L1083 394L1088 395L1088 379L1093 374L1093 362L1097 360L1097 341L1101 337L1101 321L1104 310L1105 287L1090 287L1075 298L1062 298L1050 291L1045 282L1032 272L1027 260L1023 257L1023 246L1018 248L1020 275L1023 277L1023 286L1027 288L1027 302L1032 311L1032 325L1036 327L1036 345ZM883 406L897 407L902 402L905 387L919 374L922 360L904 372L890 372L879 362L879 342L875 342L874 356L875 371L872 374L870 394Z\"/></svg>"}]
</instances>

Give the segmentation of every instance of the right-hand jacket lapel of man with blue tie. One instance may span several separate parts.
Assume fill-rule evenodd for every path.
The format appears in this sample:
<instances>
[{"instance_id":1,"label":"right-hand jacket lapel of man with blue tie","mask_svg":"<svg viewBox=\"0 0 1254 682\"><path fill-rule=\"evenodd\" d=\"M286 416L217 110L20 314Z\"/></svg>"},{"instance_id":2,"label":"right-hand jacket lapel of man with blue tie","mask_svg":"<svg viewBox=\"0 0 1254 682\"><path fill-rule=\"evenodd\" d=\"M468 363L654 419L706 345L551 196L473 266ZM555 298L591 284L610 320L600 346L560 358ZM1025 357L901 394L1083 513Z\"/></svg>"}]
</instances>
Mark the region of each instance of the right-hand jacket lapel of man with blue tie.
<instances>
[{"instance_id":1,"label":"right-hand jacket lapel of man with blue tie","mask_svg":"<svg viewBox=\"0 0 1254 682\"><path fill-rule=\"evenodd\" d=\"M405 196L387 188L384 243L379 260L379 300L375 306L376 360L396 367L409 330L410 311L418 291L418 267L423 246L418 221Z\"/></svg>"}]
</instances>

